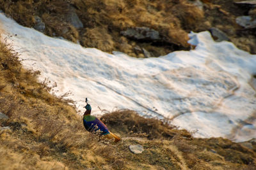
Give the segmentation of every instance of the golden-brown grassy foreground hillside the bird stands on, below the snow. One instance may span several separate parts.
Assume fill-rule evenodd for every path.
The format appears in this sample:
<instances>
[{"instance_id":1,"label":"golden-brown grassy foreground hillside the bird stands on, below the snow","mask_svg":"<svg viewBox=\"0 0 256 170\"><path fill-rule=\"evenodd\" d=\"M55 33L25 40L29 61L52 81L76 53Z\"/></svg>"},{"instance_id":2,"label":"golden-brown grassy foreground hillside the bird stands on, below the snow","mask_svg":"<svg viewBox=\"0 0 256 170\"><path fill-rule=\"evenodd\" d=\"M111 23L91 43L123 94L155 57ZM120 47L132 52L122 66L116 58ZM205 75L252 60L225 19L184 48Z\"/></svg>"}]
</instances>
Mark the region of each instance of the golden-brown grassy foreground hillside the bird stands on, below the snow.
<instances>
[{"instance_id":1,"label":"golden-brown grassy foreground hillside the bird stands on, below the snow","mask_svg":"<svg viewBox=\"0 0 256 170\"><path fill-rule=\"evenodd\" d=\"M86 132L72 101L52 96L38 71L0 44L0 169L255 169L256 142L193 138L130 110L102 116L122 137L113 143ZM141 145L140 154L130 145Z\"/></svg>"}]
</instances>

